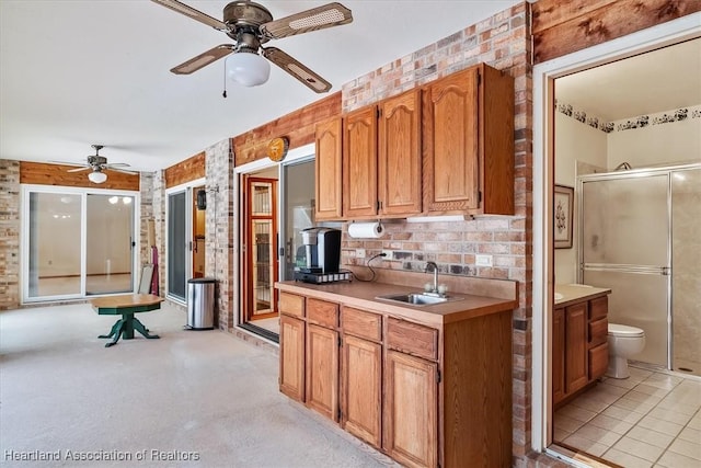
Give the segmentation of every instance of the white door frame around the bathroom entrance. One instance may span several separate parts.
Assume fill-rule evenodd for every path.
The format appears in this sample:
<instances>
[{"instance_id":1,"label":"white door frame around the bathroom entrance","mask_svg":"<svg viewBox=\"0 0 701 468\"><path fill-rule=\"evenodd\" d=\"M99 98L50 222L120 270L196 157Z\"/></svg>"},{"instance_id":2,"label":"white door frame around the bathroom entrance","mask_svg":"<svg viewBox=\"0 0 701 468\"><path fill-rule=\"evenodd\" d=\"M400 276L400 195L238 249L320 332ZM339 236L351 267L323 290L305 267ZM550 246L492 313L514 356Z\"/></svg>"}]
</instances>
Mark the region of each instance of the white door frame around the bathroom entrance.
<instances>
[{"instance_id":1,"label":"white door frame around the bathroom entrance","mask_svg":"<svg viewBox=\"0 0 701 468\"><path fill-rule=\"evenodd\" d=\"M533 292L531 447L550 445L550 327L552 284L553 81L613 60L701 37L701 13L693 13L533 67ZM550 142L550 144L549 144ZM572 460L571 460L572 461Z\"/></svg>"}]
</instances>

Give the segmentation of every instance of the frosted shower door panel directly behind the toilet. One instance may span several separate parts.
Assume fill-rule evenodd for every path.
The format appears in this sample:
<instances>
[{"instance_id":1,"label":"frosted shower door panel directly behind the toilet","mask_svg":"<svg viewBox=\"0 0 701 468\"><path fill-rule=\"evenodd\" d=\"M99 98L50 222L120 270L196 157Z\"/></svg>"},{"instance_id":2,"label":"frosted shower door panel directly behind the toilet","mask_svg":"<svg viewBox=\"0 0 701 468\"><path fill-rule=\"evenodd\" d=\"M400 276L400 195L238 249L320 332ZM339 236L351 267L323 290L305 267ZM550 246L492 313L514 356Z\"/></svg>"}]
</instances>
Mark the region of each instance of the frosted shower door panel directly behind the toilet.
<instances>
[{"instance_id":1,"label":"frosted shower door panel directly behind the toilet","mask_svg":"<svg viewBox=\"0 0 701 468\"><path fill-rule=\"evenodd\" d=\"M582 181L582 283L611 289L609 322L641 328L635 361L669 367L668 173Z\"/></svg>"}]
</instances>

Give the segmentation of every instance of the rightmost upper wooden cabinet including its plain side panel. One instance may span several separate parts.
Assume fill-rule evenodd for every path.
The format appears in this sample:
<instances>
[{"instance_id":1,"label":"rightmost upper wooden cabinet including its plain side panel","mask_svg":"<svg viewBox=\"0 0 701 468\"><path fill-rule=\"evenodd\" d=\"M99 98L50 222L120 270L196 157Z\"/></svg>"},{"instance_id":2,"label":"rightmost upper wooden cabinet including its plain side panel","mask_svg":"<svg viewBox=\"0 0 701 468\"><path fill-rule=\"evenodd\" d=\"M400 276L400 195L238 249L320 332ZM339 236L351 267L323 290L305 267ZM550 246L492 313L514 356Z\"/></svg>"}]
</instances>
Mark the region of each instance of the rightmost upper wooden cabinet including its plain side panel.
<instances>
[{"instance_id":1,"label":"rightmost upper wooden cabinet including its plain side panel","mask_svg":"<svg viewBox=\"0 0 701 468\"><path fill-rule=\"evenodd\" d=\"M514 80L484 64L423 93L424 209L514 214Z\"/></svg>"}]
</instances>

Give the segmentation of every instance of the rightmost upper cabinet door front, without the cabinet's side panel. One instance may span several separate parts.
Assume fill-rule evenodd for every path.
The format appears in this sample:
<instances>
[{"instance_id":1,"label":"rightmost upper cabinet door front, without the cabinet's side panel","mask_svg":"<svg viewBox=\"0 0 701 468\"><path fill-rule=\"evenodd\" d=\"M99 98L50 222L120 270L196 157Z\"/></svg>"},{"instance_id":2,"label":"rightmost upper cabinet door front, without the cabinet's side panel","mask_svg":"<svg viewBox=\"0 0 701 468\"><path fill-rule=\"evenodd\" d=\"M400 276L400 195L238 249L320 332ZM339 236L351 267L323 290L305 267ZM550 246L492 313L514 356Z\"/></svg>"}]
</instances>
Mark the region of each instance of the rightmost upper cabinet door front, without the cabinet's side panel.
<instances>
[{"instance_id":1,"label":"rightmost upper cabinet door front, without the cabinet's side panel","mask_svg":"<svg viewBox=\"0 0 701 468\"><path fill-rule=\"evenodd\" d=\"M424 94L424 203L428 212L479 207L478 69L430 84Z\"/></svg>"}]
</instances>

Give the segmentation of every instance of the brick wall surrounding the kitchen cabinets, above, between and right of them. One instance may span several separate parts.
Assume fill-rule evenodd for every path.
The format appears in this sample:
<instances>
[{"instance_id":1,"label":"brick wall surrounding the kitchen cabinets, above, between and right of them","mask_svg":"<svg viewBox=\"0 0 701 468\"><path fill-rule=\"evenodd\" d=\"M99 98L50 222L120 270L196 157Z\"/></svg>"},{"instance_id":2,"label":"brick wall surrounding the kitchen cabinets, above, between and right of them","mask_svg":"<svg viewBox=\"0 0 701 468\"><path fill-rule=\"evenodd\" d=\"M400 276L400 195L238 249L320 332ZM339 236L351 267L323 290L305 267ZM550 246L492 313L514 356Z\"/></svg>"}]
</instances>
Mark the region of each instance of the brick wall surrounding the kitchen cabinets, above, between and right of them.
<instances>
[{"instance_id":1,"label":"brick wall surrounding the kitchen cabinets, above, between and right of them","mask_svg":"<svg viewBox=\"0 0 701 468\"><path fill-rule=\"evenodd\" d=\"M463 221L384 225L381 239L350 239L344 226L344 264L364 265L367 258L392 250L394 260L377 259L377 269L423 271L435 261L441 274L517 281L519 308L514 312L515 463L525 461L531 445L531 290L532 290L532 83L529 4L514 5L478 24L359 77L343 87L343 112L421 87L472 65L486 62L515 81L516 215ZM356 259L355 249L366 258ZM475 255L493 255L493 266L475 265ZM520 460L520 461L519 461ZM542 466L542 461L536 464Z\"/></svg>"}]
</instances>

